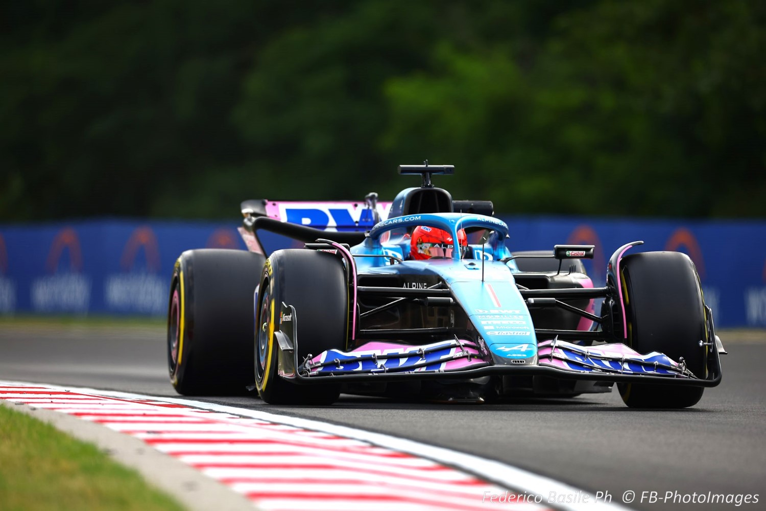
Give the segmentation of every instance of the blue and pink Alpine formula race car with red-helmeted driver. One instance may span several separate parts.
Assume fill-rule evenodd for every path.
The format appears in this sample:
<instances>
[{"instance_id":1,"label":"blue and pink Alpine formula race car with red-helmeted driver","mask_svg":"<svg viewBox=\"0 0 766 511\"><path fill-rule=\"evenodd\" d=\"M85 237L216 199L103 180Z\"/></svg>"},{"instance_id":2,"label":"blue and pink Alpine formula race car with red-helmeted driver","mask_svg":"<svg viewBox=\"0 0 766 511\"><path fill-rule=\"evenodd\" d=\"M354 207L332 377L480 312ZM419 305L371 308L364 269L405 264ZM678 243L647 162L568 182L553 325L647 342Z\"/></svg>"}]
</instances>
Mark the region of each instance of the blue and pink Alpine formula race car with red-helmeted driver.
<instances>
[{"instance_id":1,"label":"blue and pink Alpine formula race car with red-helmeted driver","mask_svg":"<svg viewBox=\"0 0 766 511\"><path fill-rule=\"evenodd\" d=\"M481 402L616 383L630 407L685 408L721 382L725 351L686 254L626 254L643 243L630 242L594 287L581 261L593 246L511 252L492 202L431 184L451 165L399 172L422 185L391 203L244 201L248 251L181 254L175 389L319 405L340 392ZM300 247L267 254L274 234Z\"/></svg>"}]
</instances>

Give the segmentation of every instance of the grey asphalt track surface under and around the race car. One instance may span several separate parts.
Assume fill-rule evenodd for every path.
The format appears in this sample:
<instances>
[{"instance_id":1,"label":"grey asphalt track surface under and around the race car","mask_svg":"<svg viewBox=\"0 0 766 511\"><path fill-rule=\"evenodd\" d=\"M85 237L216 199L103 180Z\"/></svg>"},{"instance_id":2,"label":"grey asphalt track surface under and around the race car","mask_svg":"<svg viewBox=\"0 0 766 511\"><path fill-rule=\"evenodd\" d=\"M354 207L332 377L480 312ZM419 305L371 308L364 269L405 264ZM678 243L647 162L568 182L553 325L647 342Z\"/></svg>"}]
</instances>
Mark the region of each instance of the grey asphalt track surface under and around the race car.
<instances>
[{"instance_id":1,"label":"grey asphalt track surface under and around the race car","mask_svg":"<svg viewBox=\"0 0 766 511\"><path fill-rule=\"evenodd\" d=\"M178 397L155 327L0 324L0 379ZM331 407L199 398L449 447L608 492L634 509L766 509L766 332L726 332L724 378L682 411L636 411L614 391L497 405L434 405L343 395ZM643 503L642 493L643 494ZM758 494L758 503L651 502L650 492ZM496 506L493 506L493 509Z\"/></svg>"}]
</instances>

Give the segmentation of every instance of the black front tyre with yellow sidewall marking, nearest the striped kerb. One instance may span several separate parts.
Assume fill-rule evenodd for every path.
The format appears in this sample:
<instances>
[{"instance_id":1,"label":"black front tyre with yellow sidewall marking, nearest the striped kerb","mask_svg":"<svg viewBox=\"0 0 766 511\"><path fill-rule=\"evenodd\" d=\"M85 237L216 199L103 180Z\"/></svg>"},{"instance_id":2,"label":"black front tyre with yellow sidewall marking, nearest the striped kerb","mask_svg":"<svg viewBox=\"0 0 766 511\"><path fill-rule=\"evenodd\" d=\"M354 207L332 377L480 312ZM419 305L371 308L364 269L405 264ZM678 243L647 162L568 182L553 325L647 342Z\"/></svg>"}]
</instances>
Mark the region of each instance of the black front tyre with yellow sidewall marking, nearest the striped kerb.
<instances>
[{"instance_id":1,"label":"black front tyre with yellow sidewall marking, nearest the striped kerb","mask_svg":"<svg viewBox=\"0 0 766 511\"><path fill-rule=\"evenodd\" d=\"M255 375L258 394L273 405L329 405L338 399L336 384L299 385L280 377L275 339L282 303L295 308L294 339L300 364L306 355L343 349L349 324L349 291L342 260L303 249L276 251L267 260L258 288Z\"/></svg>"}]
</instances>

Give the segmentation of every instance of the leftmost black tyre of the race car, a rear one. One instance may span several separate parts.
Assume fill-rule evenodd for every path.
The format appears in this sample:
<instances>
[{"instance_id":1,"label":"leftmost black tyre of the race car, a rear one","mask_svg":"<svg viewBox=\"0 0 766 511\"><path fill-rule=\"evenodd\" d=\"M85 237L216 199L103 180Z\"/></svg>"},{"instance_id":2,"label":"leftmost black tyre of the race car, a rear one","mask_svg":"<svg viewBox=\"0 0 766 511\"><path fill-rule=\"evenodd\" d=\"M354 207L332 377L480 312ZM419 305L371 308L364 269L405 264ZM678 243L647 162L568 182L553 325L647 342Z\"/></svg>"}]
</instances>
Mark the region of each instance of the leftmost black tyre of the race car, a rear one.
<instances>
[{"instance_id":1,"label":"leftmost black tyre of the race car, a rear one","mask_svg":"<svg viewBox=\"0 0 766 511\"><path fill-rule=\"evenodd\" d=\"M183 395L243 394L255 379L253 300L265 257L186 251L173 269L168 369Z\"/></svg>"}]
</instances>

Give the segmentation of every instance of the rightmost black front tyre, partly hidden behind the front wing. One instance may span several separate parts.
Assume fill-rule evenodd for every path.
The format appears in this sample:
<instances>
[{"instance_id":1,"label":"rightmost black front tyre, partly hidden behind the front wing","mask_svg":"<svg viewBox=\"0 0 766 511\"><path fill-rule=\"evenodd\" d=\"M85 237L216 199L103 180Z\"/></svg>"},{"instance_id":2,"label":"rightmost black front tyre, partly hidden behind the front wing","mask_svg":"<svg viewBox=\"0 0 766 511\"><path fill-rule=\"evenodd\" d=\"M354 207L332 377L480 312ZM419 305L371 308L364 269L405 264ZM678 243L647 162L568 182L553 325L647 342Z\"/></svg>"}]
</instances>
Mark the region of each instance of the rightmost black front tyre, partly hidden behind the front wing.
<instances>
[{"instance_id":1,"label":"rightmost black front tyre, partly hidden behind the front wing","mask_svg":"<svg viewBox=\"0 0 766 511\"><path fill-rule=\"evenodd\" d=\"M624 257L628 345L641 354L660 352L698 378L707 375L705 308L696 268L680 252L645 252ZM631 408L686 408L702 398L702 387L618 384Z\"/></svg>"}]
</instances>

